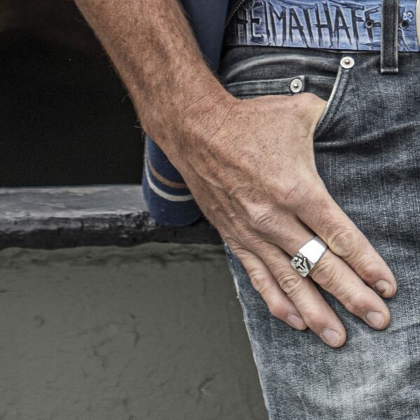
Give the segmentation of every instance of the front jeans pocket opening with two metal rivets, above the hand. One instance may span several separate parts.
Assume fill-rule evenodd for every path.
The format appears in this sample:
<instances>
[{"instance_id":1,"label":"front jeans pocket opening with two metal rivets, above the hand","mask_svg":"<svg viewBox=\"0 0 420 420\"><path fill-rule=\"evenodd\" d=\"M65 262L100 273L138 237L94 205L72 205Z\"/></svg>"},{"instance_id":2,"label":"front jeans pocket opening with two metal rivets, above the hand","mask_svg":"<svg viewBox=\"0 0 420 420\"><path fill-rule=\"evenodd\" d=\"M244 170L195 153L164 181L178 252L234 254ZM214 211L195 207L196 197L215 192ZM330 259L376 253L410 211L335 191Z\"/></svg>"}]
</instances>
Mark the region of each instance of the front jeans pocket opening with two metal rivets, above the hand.
<instances>
[{"instance_id":1,"label":"front jeans pocket opening with two metal rivets, above the hand","mask_svg":"<svg viewBox=\"0 0 420 420\"><path fill-rule=\"evenodd\" d=\"M305 52L285 55L279 52L278 55L262 55L236 62L225 69L225 87L239 99L267 94L316 94L327 101L314 130L316 141L337 121L353 63L353 57L346 54ZM261 78L261 75L265 77Z\"/></svg>"}]
</instances>

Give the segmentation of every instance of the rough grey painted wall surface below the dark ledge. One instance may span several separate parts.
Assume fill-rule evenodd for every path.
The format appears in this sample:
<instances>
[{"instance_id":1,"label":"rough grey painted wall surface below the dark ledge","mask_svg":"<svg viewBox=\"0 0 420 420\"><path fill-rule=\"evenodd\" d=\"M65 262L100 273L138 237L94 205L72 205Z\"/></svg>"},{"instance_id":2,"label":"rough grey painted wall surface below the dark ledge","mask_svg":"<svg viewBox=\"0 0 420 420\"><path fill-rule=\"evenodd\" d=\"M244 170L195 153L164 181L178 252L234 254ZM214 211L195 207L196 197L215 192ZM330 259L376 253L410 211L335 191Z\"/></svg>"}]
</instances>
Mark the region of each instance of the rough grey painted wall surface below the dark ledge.
<instances>
[{"instance_id":1,"label":"rough grey painted wall surface below the dark ledge","mask_svg":"<svg viewBox=\"0 0 420 420\"><path fill-rule=\"evenodd\" d=\"M264 420L221 246L0 252L0 419Z\"/></svg>"}]
</instances>

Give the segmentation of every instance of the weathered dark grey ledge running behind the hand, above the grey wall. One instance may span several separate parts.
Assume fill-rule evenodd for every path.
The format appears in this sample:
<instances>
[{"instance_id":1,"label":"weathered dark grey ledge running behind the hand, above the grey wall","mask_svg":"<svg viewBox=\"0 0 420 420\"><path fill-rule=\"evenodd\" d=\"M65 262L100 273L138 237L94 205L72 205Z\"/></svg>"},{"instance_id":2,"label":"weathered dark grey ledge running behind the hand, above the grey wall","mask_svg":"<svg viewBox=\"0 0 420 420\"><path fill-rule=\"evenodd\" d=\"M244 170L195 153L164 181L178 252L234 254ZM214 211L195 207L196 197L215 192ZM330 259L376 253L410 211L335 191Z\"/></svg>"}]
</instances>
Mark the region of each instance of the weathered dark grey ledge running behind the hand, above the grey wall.
<instances>
[{"instance_id":1,"label":"weathered dark grey ledge running behind the hand, above the grey wall","mask_svg":"<svg viewBox=\"0 0 420 420\"><path fill-rule=\"evenodd\" d=\"M0 248L132 246L146 242L220 244L204 218L183 228L157 225L141 186L0 188Z\"/></svg>"}]
</instances>

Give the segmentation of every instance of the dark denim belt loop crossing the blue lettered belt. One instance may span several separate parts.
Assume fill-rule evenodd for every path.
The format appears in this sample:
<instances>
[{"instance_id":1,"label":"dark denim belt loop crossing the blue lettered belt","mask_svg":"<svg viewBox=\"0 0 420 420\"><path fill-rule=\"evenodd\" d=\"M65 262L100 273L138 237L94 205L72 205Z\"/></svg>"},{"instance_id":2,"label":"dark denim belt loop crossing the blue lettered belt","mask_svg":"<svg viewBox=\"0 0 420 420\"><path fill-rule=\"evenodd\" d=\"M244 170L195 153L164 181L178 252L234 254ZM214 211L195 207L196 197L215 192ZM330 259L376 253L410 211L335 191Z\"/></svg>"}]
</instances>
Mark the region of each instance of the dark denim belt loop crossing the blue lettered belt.
<instances>
[{"instance_id":1,"label":"dark denim belt loop crossing the blue lettered belt","mask_svg":"<svg viewBox=\"0 0 420 420\"><path fill-rule=\"evenodd\" d=\"M398 0L382 0L381 73L398 73Z\"/></svg>"}]
</instances>

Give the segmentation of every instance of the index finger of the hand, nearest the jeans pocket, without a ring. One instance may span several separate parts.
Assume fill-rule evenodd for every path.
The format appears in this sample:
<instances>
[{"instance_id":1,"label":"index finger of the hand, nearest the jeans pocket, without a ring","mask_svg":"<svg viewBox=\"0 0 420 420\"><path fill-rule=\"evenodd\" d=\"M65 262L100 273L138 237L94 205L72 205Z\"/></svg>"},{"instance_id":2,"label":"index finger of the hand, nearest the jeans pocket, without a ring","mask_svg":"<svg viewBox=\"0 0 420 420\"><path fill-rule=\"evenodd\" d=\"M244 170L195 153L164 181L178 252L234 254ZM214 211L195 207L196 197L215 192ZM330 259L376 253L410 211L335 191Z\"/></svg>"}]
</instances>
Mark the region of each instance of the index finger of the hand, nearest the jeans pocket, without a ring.
<instances>
[{"instance_id":1,"label":"index finger of the hand, nearest the jeans pocket, without a ring","mask_svg":"<svg viewBox=\"0 0 420 420\"><path fill-rule=\"evenodd\" d=\"M296 209L297 217L382 297L395 295L397 282L391 269L326 188L313 190L308 198Z\"/></svg>"}]
</instances>

